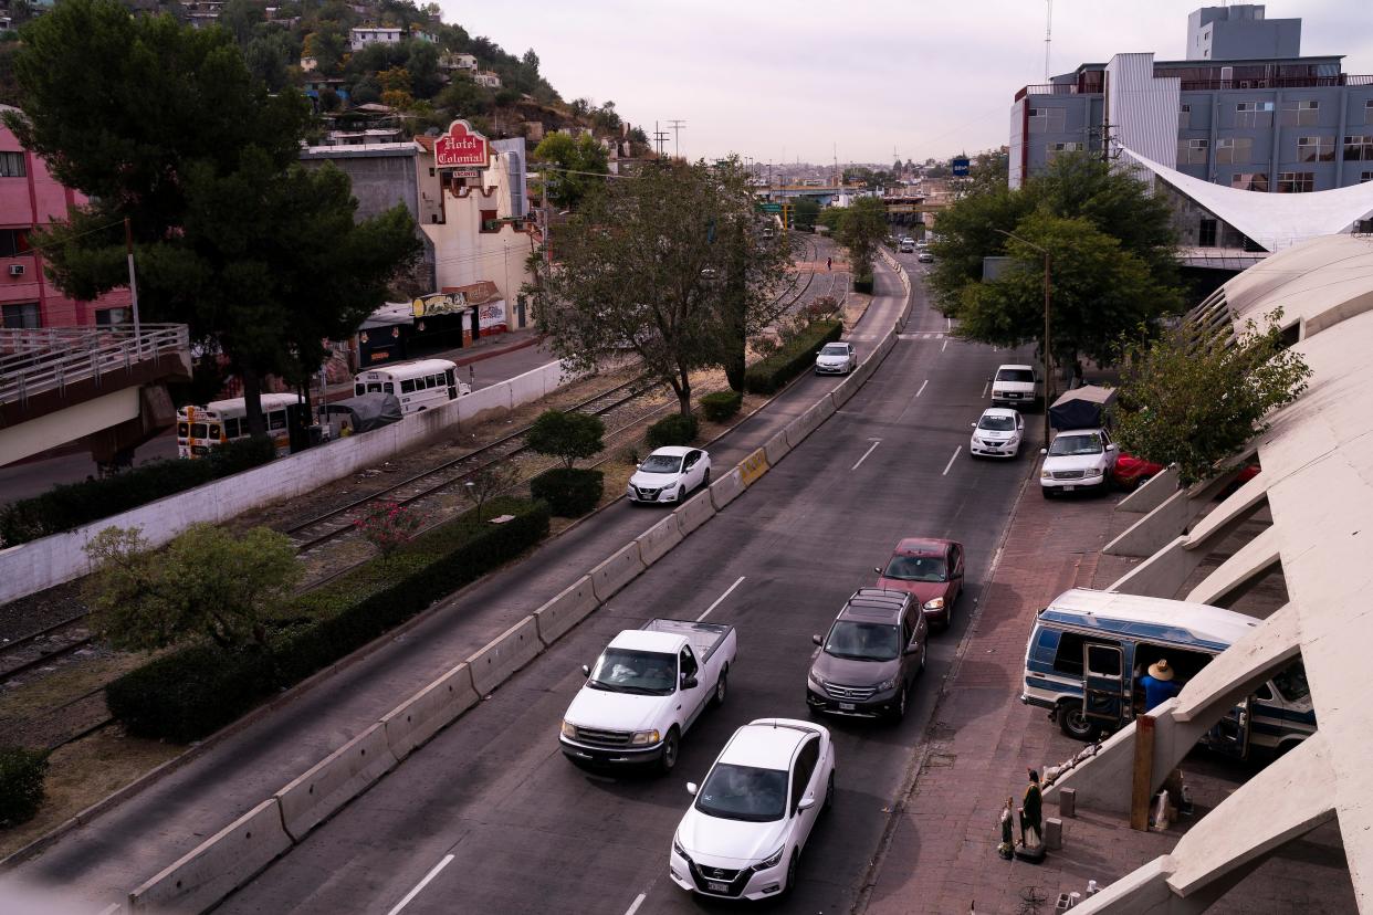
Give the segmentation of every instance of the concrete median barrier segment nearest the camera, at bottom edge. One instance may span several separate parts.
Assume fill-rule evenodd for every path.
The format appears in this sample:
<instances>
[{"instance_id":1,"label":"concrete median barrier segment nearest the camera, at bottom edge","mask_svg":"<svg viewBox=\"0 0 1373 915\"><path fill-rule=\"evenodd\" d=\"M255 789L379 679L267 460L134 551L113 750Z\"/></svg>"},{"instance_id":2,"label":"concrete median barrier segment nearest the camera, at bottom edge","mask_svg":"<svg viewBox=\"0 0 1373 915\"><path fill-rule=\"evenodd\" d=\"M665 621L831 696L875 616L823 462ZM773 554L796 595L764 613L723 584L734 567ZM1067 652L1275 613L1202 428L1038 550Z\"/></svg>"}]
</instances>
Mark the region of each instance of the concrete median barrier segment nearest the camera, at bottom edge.
<instances>
[{"instance_id":1,"label":"concrete median barrier segment nearest the camera, at bottom edge","mask_svg":"<svg viewBox=\"0 0 1373 915\"><path fill-rule=\"evenodd\" d=\"M291 848L268 798L129 893L130 912L203 912Z\"/></svg>"}]
</instances>

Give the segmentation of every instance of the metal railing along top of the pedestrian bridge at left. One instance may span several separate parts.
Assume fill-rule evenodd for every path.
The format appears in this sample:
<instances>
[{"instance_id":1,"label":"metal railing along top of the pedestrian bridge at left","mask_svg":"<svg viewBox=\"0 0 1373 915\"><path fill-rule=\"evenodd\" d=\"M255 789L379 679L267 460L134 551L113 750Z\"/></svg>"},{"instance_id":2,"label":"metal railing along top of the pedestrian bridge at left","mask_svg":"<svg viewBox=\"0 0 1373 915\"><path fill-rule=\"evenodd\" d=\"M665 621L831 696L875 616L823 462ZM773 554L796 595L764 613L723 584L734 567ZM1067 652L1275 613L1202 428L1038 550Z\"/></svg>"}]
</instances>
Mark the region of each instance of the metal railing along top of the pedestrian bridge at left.
<instances>
[{"instance_id":1,"label":"metal railing along top of the pedestrian bridge at left","mask_svg":"<svg viewBox=\"0 0 1373 915\"><path fill-rule=\"evenodd\" d=\"M0 329L0 403L23 403L34 394L69 384L102 381L137 364L168 354L189 362L191 337L184 324L132 324L97 328Z\"/></svg>"}]
</instances>

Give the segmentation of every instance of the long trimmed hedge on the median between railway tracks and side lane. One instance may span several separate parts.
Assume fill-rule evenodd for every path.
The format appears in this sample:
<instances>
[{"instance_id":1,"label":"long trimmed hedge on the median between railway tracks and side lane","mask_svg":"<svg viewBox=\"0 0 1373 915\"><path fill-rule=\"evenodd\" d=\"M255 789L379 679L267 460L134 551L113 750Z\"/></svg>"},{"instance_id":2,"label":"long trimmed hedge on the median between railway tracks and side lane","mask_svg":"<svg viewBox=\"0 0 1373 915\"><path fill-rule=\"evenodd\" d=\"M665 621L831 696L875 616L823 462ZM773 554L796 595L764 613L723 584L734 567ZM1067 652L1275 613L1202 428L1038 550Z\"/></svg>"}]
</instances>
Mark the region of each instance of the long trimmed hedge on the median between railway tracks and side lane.
<instances>
[{"instance_id":1,"label":"long trimmed hedge on the median between railway tracks and side lane","mask_svg":"<svg viewBox=\"0 0 1373 915\"><path fill-rule=\"evenodd\" d=\"M375 558L279 612L266 650L194 645L150 661L106 687L110 713L130 734L178 744L233 722L434 601L509 561L548 534L548 505L497 498L426 531L389 558Z\"/></svg>"}]
</instances>

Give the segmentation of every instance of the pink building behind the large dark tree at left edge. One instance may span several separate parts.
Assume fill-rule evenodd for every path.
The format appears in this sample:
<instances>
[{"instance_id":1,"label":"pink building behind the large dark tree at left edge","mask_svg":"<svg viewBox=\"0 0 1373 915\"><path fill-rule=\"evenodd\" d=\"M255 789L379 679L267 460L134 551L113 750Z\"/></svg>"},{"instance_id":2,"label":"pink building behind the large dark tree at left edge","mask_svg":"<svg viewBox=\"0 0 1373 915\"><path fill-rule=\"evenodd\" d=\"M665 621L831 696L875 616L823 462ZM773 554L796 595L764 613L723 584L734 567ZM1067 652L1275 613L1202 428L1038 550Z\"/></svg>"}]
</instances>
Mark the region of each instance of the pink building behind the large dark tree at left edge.
<instances>
[{"instance_id":1,"label":"pink building behind the large dark tree at left edge","mask_svg":"<svg viewBox=\"0 0 1373 915\"><path fill-rule=\"evenodd\" d=\"M0 110L14 111L8 106ZM43 274L43 255L29 247L36 226L62 222L86 198L58 184L43 159L0 123L0 326L60 328L132 321L129 291L95 302L67 298Z\"/></svg>"}]
</instances>

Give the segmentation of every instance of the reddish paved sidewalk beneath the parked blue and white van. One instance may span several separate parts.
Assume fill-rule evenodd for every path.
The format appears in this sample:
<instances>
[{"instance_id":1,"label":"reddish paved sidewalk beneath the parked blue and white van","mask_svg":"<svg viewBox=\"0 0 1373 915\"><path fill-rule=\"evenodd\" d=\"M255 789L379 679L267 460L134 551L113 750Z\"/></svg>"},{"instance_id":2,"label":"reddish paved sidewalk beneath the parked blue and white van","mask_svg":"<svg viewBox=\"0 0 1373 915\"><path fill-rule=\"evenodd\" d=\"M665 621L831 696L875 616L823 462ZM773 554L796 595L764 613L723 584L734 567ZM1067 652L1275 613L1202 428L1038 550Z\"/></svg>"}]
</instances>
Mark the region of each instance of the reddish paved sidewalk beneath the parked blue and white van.
<instances>
[{"instance_id":1,"label":"reddish paved sidewalk beneath the parked blue and white van","mask_svg":"<svg viewBox=\"0 0 1373 915\"><path fill-rule=\"evenodd\" d=\"M1082 748L1042 709L1020 702L1031 620L1070 587L1103 589L1119 578L1129 561L1100 550L1140 517L1112 512L1119 494L1050 502L1038 488L1031 476L1015 506L1000 565L925 734L914 787L870 877L861 910L869 915L964 915L972 903L978 915L1048 915L1060 893L1085 894L1089 879L1105 886L1168 853L1189 823L1254 771L1199 750L1182 764L1195 818L1168 833L1137 833L1120 818L1079 809L1063 820L1063 848L1042 864L997 856L1001 807L1008 797L1019 807L1026 768L1059 764ZM1046 818L1057 815L1056 805L1045 805ZM1038 890L1038 907L1026 905L1027 889ZM1288 846L1208 911L1355 911L1337 827L1322 826Z\"/></svg>"}]
</instances>

